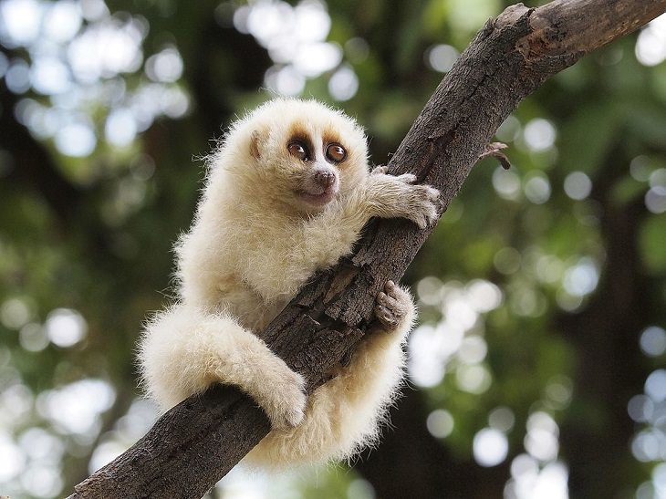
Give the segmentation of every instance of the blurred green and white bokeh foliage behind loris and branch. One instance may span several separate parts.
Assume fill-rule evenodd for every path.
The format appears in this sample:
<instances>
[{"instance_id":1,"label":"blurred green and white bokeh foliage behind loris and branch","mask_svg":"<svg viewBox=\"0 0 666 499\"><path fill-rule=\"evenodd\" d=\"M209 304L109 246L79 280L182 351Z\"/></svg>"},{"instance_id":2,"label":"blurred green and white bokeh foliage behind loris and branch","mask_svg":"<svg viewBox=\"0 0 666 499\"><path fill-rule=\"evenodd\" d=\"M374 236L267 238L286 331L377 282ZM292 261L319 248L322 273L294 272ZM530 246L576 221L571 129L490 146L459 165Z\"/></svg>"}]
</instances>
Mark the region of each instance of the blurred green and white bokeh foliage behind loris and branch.
<instances>
[{"instance_id":1,"label":"blurred green and white bokeh foliage behind loris and branch","mask_svg":"<svg viewBox=\"0 0 666 499\"><path fill-rule=\"evenodd\" d=\"M141 321L234 116L322 99L385 163L505 5L0 0L0 494L68 495L150 428ZM210 495L666 498L665 58L662 16L497 131L513 168L475 167L406 276L421 325L379 448Z\"/></svg>"}]
</instances>

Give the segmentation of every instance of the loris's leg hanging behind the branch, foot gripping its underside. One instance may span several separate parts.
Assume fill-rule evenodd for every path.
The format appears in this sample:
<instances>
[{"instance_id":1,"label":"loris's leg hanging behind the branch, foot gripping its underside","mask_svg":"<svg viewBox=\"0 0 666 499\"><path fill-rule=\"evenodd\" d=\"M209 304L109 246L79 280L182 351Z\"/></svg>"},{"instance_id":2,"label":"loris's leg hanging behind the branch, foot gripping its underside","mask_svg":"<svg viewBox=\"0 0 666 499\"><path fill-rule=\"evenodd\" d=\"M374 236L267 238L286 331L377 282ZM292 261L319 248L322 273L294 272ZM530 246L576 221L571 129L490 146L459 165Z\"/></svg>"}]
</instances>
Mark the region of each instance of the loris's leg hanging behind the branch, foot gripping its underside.
<instances>
[{"instance_id":1,"label":"loris's leg hanging behind the branch, foot gripping its underside","mask_svg":"<svg viewBox=\"0 0 666 499\"><path fill-rule=\"evenodd\" d=\"M245 463L346 459L379 440L402 379L402 343L416 314L410 294L392 282L377 296L375 313L379 330L360 342L349 366L310 395L305 419L289 431L271 432Z\"/></svg>"}]
</instances>

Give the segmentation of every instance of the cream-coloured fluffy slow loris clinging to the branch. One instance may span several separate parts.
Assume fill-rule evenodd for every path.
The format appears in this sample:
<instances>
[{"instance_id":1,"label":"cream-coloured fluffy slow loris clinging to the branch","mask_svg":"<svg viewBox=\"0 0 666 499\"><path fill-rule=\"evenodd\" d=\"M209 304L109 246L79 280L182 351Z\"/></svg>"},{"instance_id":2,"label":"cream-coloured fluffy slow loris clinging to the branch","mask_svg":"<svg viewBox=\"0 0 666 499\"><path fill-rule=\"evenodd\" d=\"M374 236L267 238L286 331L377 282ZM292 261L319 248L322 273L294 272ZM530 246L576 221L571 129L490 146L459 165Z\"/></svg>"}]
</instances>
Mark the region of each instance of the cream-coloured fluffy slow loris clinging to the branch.
<instances>
[{"instance_id":1,"label":"cream-coloured fluffy slow loris clinging to the branch","mask_svg":"<svg viewBox=\"0 0 666 499\"><path fill-rule=\"evenodd\" d=\"M307 158L289 149L295 140ZM326 158L329 143L346 150L344 161ZM376 441L401 382L411 296L388 283L375 309L383 330L309 398L304 379L253 331L318 269L348 255L372 216L431 223L438 192L412 184L412 175L369 173L356 122L312 100L276 99L256 109L209 162L193 226L176 246L180 298L141 338L146 389L164 410L213 382L245 390L273 426L245 463L281 468L349 458Z\"/></svg>"}]
</instances>

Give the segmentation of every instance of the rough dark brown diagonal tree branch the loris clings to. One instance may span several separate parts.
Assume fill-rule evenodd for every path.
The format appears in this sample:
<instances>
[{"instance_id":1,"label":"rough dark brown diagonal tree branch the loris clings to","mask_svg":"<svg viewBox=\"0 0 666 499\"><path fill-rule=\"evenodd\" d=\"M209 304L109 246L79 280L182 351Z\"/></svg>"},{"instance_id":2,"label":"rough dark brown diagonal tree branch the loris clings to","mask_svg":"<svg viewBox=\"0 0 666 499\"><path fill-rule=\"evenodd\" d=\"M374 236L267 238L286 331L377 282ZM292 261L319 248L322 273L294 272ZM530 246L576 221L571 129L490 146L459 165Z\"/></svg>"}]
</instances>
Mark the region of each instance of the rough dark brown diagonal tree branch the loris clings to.
<instances>
[{"instance_id":1,"label":"rough dark brown diagonal tree branch the loris clings to","mask_svg":"<svg viewBox=\"0 0 666 499\"><path fill-rule=\"evenodd\" d=\"M442 192L442 212L494 131L546 78L666 11L666 0L556 0L508 7L489 21L443 79L392 157ZM262 338L307 378L308 390L348 359L372 320L374 296L399 280L432 229L369 224L359 249L317 275ZM74 498L201 497L269 431L264 413L232 387L215 387L164 414L139 442L87 480Z\"/></svg>"}]
</instances>

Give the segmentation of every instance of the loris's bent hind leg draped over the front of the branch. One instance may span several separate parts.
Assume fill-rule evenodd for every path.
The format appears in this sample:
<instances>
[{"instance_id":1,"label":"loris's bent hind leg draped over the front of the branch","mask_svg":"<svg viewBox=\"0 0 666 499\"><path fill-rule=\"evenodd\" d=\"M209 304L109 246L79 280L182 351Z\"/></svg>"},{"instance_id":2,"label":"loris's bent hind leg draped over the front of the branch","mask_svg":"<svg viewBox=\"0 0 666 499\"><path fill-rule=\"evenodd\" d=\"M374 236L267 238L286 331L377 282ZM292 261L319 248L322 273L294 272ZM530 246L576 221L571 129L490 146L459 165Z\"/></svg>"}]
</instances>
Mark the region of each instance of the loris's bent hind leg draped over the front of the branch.
<instances>
[{"instance_id":1,"label":"loris's bent hind leg draped over the front of the branch","mask_svg":"<svg viewBox=\"0 0 666 499\"><path fill-rule=\"evenodd\" d=\"M146 327L139 358L146 389L163 409L221 382L255 399L274 428L303 419L304 379L231 317L172 307Z\"/></svg>"}]
</instances>

